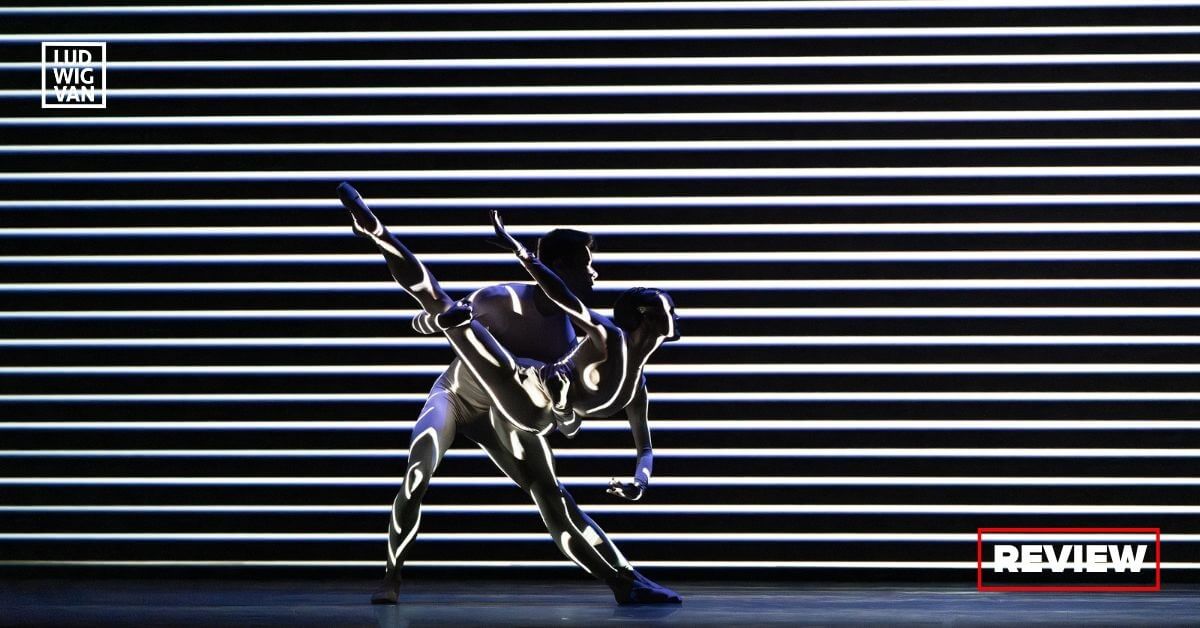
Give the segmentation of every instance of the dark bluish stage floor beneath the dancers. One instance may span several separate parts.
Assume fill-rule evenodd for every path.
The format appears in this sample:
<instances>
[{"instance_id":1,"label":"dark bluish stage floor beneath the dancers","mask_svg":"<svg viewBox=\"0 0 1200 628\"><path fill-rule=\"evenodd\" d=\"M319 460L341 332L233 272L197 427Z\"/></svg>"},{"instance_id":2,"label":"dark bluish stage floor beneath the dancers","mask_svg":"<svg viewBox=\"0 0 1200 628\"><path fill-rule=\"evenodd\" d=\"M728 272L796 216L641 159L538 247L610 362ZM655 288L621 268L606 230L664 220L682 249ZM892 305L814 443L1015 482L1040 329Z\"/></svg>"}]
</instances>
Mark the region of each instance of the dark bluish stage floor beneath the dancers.
<instances>
[{"instance_id":1,"label":"dark bluish stage floor beneath the dancers","mask_svg":"<svg viewBox=\"0 0 1200 628\"><path fill-rule=\"evenodd\" d=\"M972 586L683 582L682 606L624 608L588 582L406 584L372 606L370 582L0 581L2 626L1196 626L1200 588L1158 593L979 593Z\"/></svg>"}]
</instances>

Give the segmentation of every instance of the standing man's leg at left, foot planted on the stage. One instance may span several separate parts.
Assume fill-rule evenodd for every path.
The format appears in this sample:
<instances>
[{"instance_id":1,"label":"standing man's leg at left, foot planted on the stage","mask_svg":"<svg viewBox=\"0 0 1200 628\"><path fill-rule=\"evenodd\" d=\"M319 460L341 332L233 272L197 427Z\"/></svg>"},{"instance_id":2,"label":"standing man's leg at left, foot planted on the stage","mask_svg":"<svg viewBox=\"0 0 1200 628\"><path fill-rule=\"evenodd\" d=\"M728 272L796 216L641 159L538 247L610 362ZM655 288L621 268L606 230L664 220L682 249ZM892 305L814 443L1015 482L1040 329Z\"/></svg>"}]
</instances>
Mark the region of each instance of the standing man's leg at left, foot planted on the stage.
<instances>
[{"instance_id":1,"label":"standing man's leg at left, foot planted on the stage","mask_svg":"<svg viewBox=\"0 0 1200 628\"><path fill-rule=\"evenodd\" d=\"M404 566L421 525L421 500L438 462L455 437L455 400L446 390L434 390L413 426L404 482L391 504L388 521L388 572L371 596L372 604L395 604L400 596L400 570Z\"/></svg>"}]
</instances>

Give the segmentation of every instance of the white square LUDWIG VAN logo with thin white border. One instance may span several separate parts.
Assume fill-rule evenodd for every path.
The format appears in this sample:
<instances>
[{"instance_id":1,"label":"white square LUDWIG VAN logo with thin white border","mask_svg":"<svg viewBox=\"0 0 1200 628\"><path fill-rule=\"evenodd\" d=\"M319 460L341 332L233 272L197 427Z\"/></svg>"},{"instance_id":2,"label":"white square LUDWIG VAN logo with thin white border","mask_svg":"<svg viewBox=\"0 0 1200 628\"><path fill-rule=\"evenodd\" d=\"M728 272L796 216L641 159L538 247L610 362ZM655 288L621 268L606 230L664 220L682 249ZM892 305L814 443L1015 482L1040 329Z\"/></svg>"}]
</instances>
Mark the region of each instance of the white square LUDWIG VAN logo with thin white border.
<instances>
[{"instance_id":1,"label":"white square LUDWIG VAN logo with thin white border","mask_svg":"<svg viewBox=\"0 0 1200 628\"><path fill-rule=\"evenodd\" d=\"M42 42L43 109L103 109L107 83L104 42Z\"/></svg>"}]
</instances>

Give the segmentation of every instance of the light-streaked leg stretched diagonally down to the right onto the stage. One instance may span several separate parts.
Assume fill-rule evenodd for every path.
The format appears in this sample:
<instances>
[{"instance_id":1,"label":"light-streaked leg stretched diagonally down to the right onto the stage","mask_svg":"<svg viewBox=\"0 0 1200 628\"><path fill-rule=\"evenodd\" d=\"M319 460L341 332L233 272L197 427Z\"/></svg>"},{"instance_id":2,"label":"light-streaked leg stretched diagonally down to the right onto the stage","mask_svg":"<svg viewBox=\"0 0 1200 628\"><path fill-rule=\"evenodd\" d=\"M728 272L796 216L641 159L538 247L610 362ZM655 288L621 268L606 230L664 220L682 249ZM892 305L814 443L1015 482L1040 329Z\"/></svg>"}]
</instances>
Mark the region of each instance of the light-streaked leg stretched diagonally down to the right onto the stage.
<instances>
[{"instance_id":1,"label":"light-streaked leg stretched diagonally down to the right onto the stage","mask_svg":"<svg viewBox=\"0 0 1200 628\"><path fill-rule=\"evenodd\" d=\"M544 436L514 429L494 413L487 424L473 421L464 426L464 433L529 494L558 549L584 572L607 584L618 603L680 602L673 591L634 570L604 530L580 510L571 494L558 482L554 457Z\"/></svg>"}]
</instances>

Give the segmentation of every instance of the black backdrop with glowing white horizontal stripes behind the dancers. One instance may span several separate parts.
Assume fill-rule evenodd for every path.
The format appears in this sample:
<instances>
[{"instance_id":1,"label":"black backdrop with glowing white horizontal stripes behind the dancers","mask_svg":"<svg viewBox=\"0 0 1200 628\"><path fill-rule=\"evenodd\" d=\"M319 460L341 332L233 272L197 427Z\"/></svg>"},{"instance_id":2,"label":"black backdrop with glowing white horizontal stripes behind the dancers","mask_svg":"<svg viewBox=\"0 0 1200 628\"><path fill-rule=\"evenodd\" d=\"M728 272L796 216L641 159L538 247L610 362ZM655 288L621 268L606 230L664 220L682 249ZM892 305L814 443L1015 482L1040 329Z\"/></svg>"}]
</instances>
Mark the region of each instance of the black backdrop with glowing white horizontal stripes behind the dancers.
<instances>
[{"instance_id":1,"label":"black backdrop with glowing white horizontal stripes behind the dancers","mask_svg":"<svg viewBox=\"0 0 1200 628\"><path fill-rule=\"evenodd\" d=\"M1158 527L1200 578L1200 1L0 7L0 573L378 575L485 209L670 289L659 473L552 438L636 564L974 580L979 527ZM40 47L107 42L106 109ZM466 438L414 573L572 567ZM1116 538L1116 537L1114 537Z\"/></svg>"}]
</instances>

